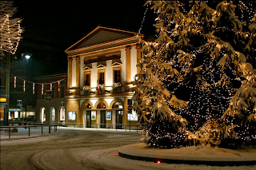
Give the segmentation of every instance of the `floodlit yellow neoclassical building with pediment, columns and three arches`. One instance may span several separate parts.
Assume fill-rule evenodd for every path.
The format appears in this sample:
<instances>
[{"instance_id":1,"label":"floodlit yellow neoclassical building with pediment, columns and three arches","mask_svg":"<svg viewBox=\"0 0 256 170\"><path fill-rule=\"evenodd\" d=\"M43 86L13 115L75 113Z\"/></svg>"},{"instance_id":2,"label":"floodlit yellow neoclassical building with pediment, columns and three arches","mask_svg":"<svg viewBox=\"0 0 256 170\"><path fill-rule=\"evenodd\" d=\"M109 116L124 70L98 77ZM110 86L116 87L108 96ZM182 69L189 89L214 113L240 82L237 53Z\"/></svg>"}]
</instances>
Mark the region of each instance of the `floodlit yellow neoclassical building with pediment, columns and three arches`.
<instances>
[{"instance_id":1,"label":"floodlit yellow neoclassical building with pediment, columns and three arches","mask_svg":"<svg viewBox=\"0 0 256 170\"><path fill-rule=\"evenodd\" d=\"M136 33L98 26L65 52L66 123L85 128L137 125L129 90L142 56Z\"/></svg>"}]
</instances>

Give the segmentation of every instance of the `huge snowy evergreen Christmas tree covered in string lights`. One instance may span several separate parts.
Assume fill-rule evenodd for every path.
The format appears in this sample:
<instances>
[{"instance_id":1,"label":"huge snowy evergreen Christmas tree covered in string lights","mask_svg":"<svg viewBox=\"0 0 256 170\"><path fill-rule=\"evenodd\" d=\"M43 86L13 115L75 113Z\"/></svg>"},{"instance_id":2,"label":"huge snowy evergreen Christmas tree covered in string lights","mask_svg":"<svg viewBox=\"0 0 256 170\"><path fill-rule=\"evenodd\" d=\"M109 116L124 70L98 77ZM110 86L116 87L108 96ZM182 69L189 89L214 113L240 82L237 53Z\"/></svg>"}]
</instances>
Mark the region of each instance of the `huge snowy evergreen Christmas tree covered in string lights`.
<instances>
[{"instance_id":1,"label":"huge snowy evergreen Christmas tree covered in string lights","mask_svg":"<svg viewBox=\"0 0 256 170\"><path fill-rule=\"evenodd\" d=\"M254 144L255 2L149 1L158 17L143 43L134 109L142 142Z\"/></svg>"}]
</instances>

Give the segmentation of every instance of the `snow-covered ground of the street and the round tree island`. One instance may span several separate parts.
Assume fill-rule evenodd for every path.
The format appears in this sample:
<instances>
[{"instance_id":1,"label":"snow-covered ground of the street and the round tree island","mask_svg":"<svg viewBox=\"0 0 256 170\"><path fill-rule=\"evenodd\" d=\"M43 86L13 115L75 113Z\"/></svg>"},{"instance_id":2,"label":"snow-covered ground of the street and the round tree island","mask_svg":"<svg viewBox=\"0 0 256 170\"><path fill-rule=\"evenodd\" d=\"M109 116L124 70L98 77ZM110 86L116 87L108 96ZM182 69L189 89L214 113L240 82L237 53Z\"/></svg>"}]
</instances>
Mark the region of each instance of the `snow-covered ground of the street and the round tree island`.
<instances>
[{"instance_id":1,"label":"snow-covered ground of the street and the round tree island","mask_svg":"<svg viewBox=\"0 0 256 170\"><path fill-rule=\"evenodd\" d=\"M7 135L7 134L2 134ZM16 134L18 137L18 134ZM190 164L155 164L142 160L130 160L118 156L118 151L140 154L140 156L166 156L170 150L144 147L139 143L139 132L113 129L58 128L58 132L28 136L26 132L19 140L1 141L1 170L5 169L193 169L193 170L254 170L253 166L218 167ZM18 139L18 138L15 139ZM14 138L13 138L14 139ZM207 159L255 159L255 151L229 152L222 148L179 148L174 156ZM223 158L224 157L224 158ZM232 158L233 157L233 158Z\"/></svg>"}]
</instances>

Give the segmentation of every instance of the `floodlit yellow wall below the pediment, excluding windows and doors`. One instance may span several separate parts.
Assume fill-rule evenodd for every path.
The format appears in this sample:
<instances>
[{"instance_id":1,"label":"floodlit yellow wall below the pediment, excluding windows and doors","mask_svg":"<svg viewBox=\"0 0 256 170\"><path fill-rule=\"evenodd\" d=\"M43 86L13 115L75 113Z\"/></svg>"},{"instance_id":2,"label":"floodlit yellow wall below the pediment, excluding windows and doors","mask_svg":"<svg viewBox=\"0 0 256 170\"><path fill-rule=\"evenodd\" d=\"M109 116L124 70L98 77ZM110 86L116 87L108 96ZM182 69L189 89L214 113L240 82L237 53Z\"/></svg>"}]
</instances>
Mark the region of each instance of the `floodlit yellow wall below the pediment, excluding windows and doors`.
<instances>
[{"instance_id":1,"label":"floodlit yellow wall below the pediment, excluding windows and doors","mask_svg":"<svg viewBox=\"0 0 256 170\"><path fill-rule=\"evenodd\" d=\"M134 34L133 34L134 36ZM96 120L90 120L91 127L97 127L97 124L101 123L101 112L111 111L111 120L106 120L106 124L110 124L110 127L117 128L117 112L122 111L122 125L138 125L138 121L128 121L127 114L128 104L127 101L133 96L130 93L130 87L132 86L132 81L134 81L134 76L138 73L137 68L138 59L141 58L141 46L138 45L138 40L134 37L126 38L127 42L124 40L117 40L113 42L106 42L106 46L103 44L96 44L91 46L82 45L82 42L78 42L78 49L67 49L68 53L68 95L66 97L66 123L81 124L86 127L86 112L96 112ZM122 44L120 44L122 42ZM86 43L86 42L85 42ZM114 45L116 43L116 46ZM111 44L111 45L110 45ZM75 44L76 45L76 44ZM82 46L82 47L81 47ZM79 49L80 48L80 49ZM82 49L84 48L84 50ZM86 51L86 49L88 49ZM121 84L122 92L114 93L113 82L114 82L114 59L109 59L105 61L92 61L86 65L90 72L90 93L86 94L83 92L82 88L84 86L84 60L90 60L93 58L99 58L102 56L108 57L114 55L114 53L120 53L121 65ZM99 60L99 59L98 59ZM98 82L98 66L102 64L105 70L105 86L107 93L98 93L97 82ZM86 69L86 70L87 70ZM115 102L120 101L122 103L122 109L113 109L112 105ZM106 105L104 109L98 109L98 105L103 102ZM85 105L90 104L90 109L86 109ZM74 121L68 120L69 112L76 113L76 119ZM118 120L119 121L119 120ZM101 126L98 125L98 128ZM106 125L108 128L108 125ZM122 127L125 128L125 127Z\"/></svg>"}]
</instances>

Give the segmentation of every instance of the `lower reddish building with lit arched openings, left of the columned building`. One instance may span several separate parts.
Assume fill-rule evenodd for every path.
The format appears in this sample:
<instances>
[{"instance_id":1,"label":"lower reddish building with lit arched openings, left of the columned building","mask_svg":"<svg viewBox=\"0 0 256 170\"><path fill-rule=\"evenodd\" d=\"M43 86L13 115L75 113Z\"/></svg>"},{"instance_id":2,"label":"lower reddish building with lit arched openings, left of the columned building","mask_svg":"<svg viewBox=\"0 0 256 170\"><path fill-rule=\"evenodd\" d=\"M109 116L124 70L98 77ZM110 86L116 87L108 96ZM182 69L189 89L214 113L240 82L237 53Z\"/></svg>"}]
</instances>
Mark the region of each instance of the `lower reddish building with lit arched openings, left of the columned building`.
<instances>
[{"instance_id":1,"label":"lower reddish building with lit arched openings, left of the columned building","mask_svg":"<svg viewBox=\"0 0 256 170\"><path fill-rule=\"evenodd\" d=\"M65 124L66 73L34 78L38 81L37 121L42 124Z\"/></svg>"}]
</instances>

